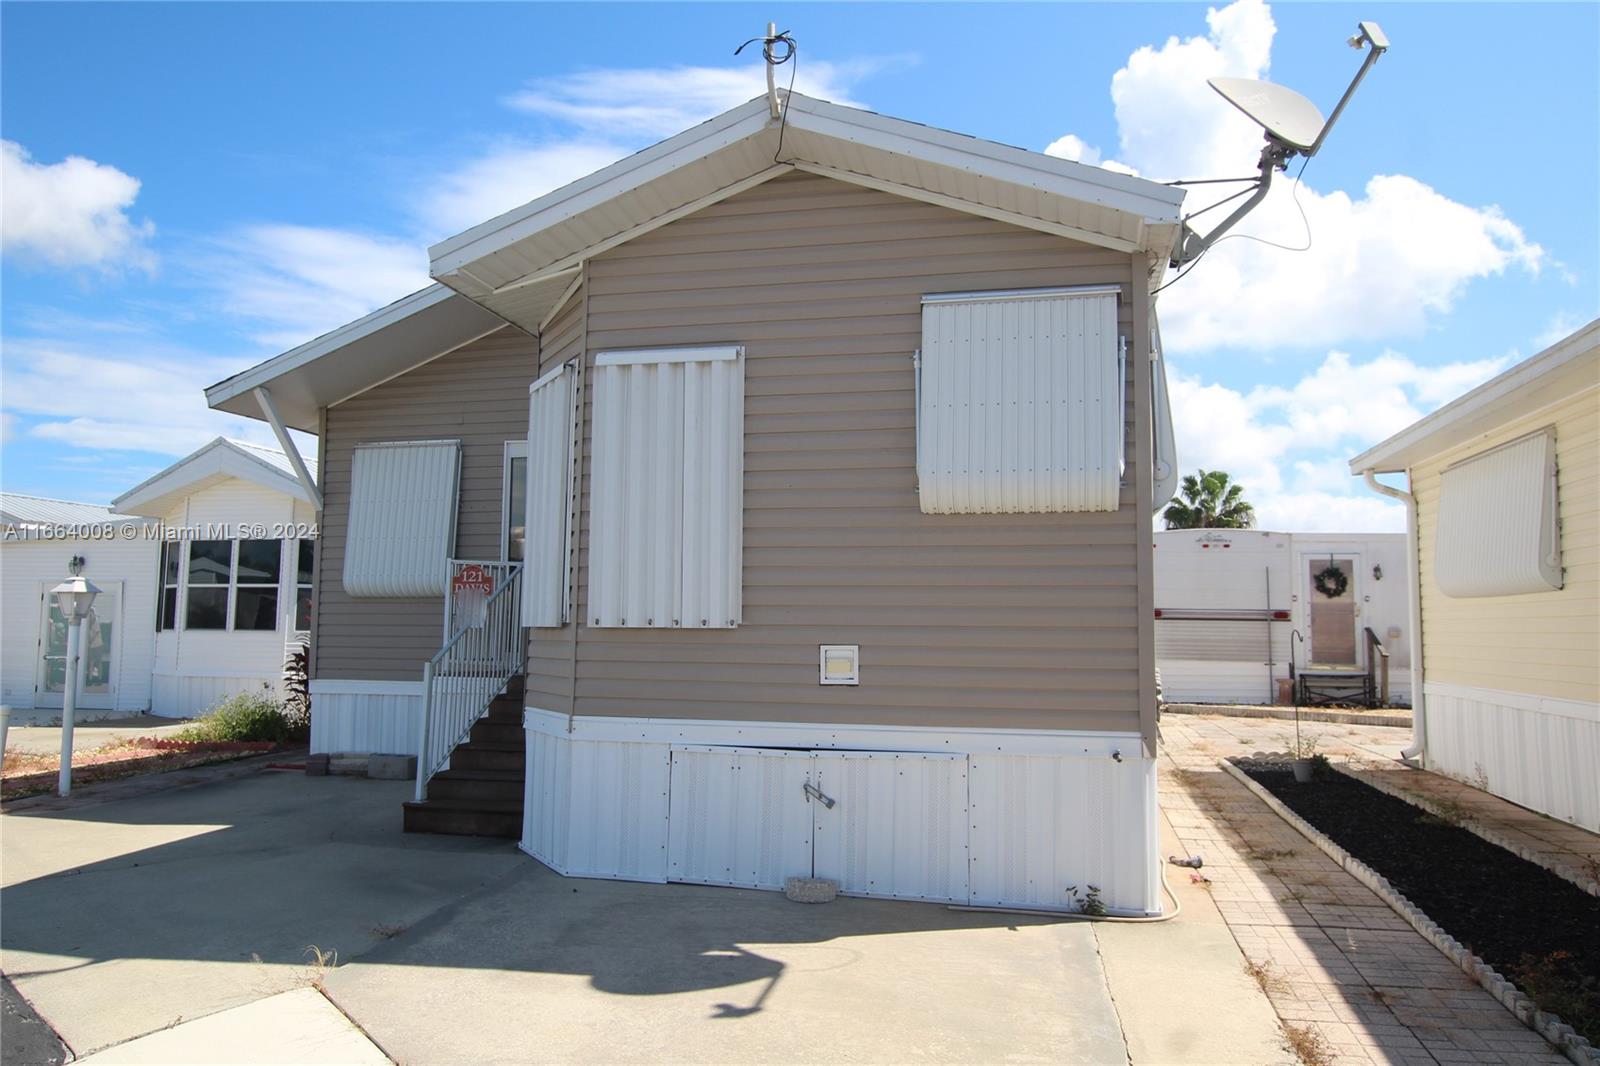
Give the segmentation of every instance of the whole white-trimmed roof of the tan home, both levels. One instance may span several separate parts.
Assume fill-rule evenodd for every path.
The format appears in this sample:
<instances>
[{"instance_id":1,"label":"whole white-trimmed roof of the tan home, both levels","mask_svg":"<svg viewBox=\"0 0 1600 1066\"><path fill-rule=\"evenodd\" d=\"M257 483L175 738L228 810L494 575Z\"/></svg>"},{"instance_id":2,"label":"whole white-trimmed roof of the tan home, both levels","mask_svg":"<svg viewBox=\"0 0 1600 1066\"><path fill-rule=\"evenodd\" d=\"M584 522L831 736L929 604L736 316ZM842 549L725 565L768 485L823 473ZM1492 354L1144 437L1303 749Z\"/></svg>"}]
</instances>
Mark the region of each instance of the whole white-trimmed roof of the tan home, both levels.
<instances>
[{"instance_id":1,"label":"whole white-trimmed roof of the tan home, both levels","mask_svg":"<svg viewBox=\"0 0 1600 1066\"><path fill-rule=\"evenodd\" d=\"M782 162L774 162L779 158ZM437 285L206 389L211 407L286 426L512 323L539 333L586 259L790 171L1038 229L1149 251L1165 267L1184 192L1142 178L981 141L792 93L766 96L434 245Z\"/></svg>"}]
</instances>

